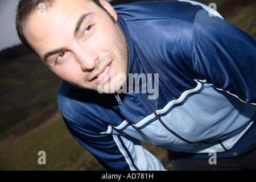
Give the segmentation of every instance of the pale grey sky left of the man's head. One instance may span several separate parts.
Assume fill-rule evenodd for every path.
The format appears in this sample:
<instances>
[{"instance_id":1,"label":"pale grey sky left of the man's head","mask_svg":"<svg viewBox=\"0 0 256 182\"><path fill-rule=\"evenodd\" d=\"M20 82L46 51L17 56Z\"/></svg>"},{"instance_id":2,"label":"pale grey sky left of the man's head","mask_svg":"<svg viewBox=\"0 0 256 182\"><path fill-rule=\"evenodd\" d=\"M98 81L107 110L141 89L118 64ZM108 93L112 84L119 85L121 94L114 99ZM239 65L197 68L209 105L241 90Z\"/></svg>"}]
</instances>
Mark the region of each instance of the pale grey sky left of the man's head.
<instances>
[{"instance_id":1,"label":"pale grey sky left of the man's head","mask_svg":"<svg viewBox=\"0 0 256 182\"><path fill-rule=\"evenodd\" d=\"M18 2L19 0L0 0L0 51L21 43L15 28Z\"/></svg>"}]
</instances>

